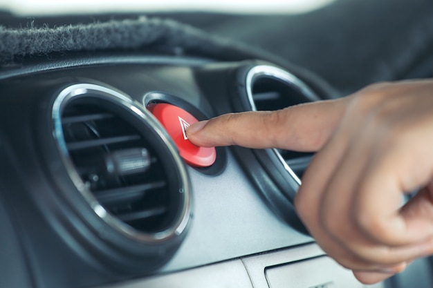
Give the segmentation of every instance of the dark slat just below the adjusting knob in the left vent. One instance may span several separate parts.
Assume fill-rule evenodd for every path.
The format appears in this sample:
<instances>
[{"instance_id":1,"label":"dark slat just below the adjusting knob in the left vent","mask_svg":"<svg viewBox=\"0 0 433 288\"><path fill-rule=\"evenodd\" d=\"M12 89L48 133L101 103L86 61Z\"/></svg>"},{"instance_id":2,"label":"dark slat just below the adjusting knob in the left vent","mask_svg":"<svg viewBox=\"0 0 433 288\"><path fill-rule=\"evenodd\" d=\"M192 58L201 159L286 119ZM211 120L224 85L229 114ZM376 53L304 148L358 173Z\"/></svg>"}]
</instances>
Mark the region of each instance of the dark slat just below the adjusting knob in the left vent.
<instances>
[{"instance_id":1,"label":"dark slat just below the adjusting knob in the left vent","mask_svg":"<svg viewBox=\"0 0 433 288\"><path fill-rule=\"evenodd\" d=\"M94 191L95 197L104 204L112 204L144 195L147 191L161 189L167 186L165 181L151 182L135 186L125 186L116 189Z\"/></svg>"}]
</instances>

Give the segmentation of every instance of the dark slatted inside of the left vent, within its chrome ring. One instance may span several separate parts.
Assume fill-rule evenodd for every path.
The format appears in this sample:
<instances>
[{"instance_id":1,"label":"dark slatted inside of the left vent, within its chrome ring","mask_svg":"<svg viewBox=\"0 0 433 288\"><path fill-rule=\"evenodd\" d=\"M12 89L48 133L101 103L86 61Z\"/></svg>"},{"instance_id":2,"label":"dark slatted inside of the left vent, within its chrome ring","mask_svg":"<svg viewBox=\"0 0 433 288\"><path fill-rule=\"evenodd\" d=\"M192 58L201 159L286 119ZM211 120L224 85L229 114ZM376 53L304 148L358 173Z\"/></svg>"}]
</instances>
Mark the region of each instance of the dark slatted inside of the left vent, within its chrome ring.
<instances>
[{"instance_id":1,"label":"dark slatted inside of the left vent, within its chrome ring","mask_svg":"<svg viewBox=\"0 0 433 288\"><path fill-rule=\"evenodd\" d=\"M156 146L158 137L141 118L112 99L77 99L63 110L62 130L75 171L113 218L137 233L158 233L173 223L181 193L172 191L177 177L169 151ZM149 133L150 132L150 133ZM163 142L160 142L161 144ZM158 153L160 151L160 153ZM167 158L169 159L169 158ZM98 214L98 213L97 213ZM109 221L118 227L120 222ZM119 227L118 227L119 228Z\"/></svg>"}]
</instances>

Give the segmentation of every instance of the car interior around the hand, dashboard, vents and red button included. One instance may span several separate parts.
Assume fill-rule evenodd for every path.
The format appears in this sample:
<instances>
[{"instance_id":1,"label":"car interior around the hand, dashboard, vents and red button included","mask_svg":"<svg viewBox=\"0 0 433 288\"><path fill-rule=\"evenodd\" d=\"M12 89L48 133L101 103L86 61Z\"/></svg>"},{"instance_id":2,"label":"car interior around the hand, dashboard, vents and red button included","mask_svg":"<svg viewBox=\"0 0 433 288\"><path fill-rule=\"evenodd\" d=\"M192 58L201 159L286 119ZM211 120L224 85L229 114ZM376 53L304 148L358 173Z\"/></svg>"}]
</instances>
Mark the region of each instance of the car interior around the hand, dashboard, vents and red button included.
<instances>
[{"instance_id":1,"label":"car interior around the hand, dashboard, vents and red button included","mask_svg":"<svg viewBox=\"0 0 433 288\"><path fill-rule=\"evenodd\" d=\"M432 1L322 2L37 14L0 2L0 287L433 287L431 257L363 285L315 244L293 207L313 153L185 135L225 113L432 77Z\"/></svg>"}]
</instances>

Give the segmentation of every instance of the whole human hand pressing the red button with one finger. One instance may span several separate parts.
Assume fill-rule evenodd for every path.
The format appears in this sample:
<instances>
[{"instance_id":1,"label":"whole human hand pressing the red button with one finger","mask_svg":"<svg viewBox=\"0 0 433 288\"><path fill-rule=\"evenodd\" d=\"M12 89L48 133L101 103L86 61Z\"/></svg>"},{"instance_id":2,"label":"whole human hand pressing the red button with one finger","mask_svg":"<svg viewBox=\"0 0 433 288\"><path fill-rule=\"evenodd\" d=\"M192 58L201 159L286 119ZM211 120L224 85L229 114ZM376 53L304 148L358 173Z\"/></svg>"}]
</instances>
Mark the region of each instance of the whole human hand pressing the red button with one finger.
<instances>
[{"instance_id":1,"label":"whole human hand pressing the red button with one finger","mask_svg":"<svg viewBox=\"0 0 433 288\"><path fill-rule=\"evenodd\" d=\"M433 253L433 81L192 124L199 146L317 151L295 208L324 251L374 283ZM403 195L421 190L402 207Z\"/></svg>"}]
</instances>

